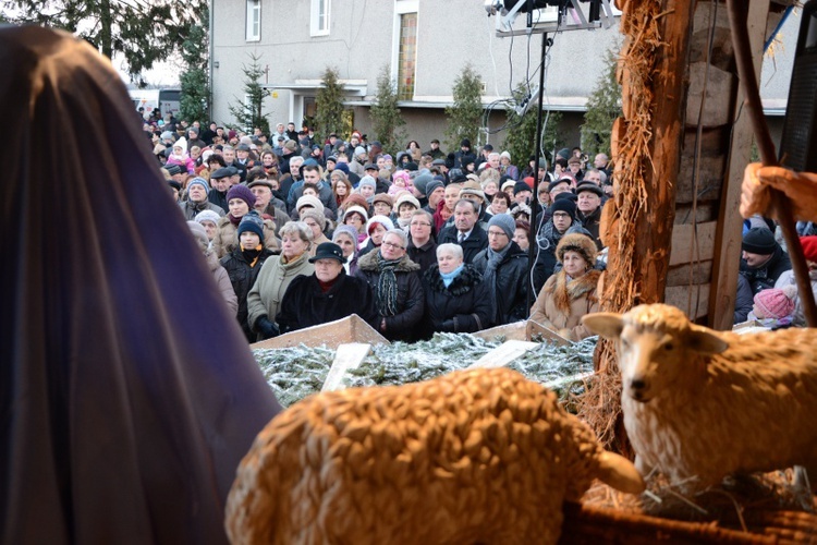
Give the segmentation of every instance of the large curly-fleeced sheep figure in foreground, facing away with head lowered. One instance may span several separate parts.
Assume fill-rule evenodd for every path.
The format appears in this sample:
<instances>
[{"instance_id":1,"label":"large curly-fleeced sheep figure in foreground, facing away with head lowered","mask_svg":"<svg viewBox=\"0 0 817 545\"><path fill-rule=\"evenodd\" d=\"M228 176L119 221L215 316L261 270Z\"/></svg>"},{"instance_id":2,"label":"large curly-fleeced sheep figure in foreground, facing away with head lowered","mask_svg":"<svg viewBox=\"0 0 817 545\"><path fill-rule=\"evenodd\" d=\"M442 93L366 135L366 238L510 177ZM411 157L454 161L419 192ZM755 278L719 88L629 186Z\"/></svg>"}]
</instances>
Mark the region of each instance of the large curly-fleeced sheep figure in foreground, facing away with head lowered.
<instances>
[{"instance_id":1,"label":"large curly-fleeced sheep figure in foreground, facing away with head lowered","mask_svg":"<svg viewBox=\"0 0 817 545\"><path fill-rule=\"evenodd\" d=\"M232 543L556 543L598 477L644 483L509 370L324 392L258 435L228 498Z\"/></svg>"}]
</instances>

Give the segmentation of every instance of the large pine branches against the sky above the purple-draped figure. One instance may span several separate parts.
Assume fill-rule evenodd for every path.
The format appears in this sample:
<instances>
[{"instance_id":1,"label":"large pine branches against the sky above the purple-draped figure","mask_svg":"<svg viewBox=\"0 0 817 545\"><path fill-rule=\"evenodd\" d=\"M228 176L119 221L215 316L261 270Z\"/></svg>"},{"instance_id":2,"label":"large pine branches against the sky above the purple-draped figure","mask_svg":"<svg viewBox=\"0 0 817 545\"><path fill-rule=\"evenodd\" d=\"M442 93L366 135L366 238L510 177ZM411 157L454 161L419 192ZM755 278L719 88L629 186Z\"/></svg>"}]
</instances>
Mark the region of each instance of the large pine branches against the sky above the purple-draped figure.
<instances>
[{"instance_id":1,"label":"large pine branches against the sky above the purple-draped figure","mask_svg":"<svg viewBox=\"0 0 817 545\"><path fill-rule=\"evenodd\" d=\"M202 16L205 0L5 0L4 4L4 16L13 23L62 28L108 58L121 55L132 80L166 59L207 21Z\"/></svg>"}]
</instances>

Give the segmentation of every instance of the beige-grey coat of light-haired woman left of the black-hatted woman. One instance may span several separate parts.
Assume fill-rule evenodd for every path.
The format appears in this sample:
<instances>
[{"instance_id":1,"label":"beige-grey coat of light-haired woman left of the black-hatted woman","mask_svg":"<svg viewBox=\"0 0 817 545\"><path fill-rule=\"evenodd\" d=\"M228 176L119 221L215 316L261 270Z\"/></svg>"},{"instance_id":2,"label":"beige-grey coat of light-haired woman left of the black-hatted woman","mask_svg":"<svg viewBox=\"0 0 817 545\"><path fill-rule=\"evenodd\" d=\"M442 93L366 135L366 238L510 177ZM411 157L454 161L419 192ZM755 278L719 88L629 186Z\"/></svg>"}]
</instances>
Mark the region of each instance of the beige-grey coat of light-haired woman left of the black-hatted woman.
<instances>
[{"instance_id":1,"label":"beige-grey coat of light-haired woman left of the black-hatted woman","mask_svg":"<svg viewBox=\"0 0 817 545\"><path fill-rule=\"evenodd\" d=\"M283 263L281 259L282 256L273 255L264 262L255 284L247 293L247 324L254 331L255 323L261 316L267 316L270 322L276 320L283 294L296 276L315 272L308 252L294 263Z\"/></svg>"}]
</instances>

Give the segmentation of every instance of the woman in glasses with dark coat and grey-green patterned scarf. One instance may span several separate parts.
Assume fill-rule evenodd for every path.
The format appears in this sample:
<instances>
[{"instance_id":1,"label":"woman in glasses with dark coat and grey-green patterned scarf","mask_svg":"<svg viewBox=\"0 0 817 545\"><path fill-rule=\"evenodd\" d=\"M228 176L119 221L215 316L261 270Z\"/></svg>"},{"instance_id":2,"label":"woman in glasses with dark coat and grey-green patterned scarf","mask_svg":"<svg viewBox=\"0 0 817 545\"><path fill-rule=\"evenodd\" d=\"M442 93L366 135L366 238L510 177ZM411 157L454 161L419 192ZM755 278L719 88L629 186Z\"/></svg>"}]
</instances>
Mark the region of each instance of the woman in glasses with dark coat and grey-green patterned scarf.
<instances>
[{"instance_id":1,"label":"woman in glasses with dark coat and grey-green patterned scarf","mask_svg":"<svg viewBox=\"0 0 817 545\"><path fill-rule=\"evenodd\" d=\"M389 340L416 340L415 329L423 318L425 301L417 274L419 265L406 255L407 245L405 231L392 227L378 250L357 261L355 276L371 288L380 316L378 329Z\"/></svg>"}]
</instances>

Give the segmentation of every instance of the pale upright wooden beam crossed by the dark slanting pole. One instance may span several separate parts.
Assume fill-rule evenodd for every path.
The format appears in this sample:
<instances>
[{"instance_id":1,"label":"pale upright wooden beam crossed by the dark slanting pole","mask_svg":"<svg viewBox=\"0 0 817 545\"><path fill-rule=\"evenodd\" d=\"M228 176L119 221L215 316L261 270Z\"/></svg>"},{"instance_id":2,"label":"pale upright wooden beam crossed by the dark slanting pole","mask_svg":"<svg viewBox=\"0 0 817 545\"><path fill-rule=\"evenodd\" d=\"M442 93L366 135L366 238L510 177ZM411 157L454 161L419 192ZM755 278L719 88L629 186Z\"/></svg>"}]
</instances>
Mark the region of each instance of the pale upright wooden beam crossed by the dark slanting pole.
<instances>
[{"instance_id":1,"label":"pale upright wooden beam crossed by the dark slanting pole","mask_svg":"<svg viewBox=\"0 0 817 545\"><path fill-rule=\"evenodd\" d=\"M760 74L763 47L766 37L766 20L769 0L752 0L748 5L747 26L754 52L755 73ZM737 274L741 258L743 218L739 211L743 171L749 162L752 150L752 125L744 111L743 85L737 87L734 106L734 128L729 150L729 165L721 191L721 209L718 230L715 234L715 263L709 293L709 327L727 330L734 319L734 300L737 291Z\"/></svg>"}]
</instances>

